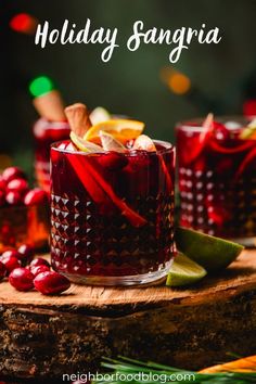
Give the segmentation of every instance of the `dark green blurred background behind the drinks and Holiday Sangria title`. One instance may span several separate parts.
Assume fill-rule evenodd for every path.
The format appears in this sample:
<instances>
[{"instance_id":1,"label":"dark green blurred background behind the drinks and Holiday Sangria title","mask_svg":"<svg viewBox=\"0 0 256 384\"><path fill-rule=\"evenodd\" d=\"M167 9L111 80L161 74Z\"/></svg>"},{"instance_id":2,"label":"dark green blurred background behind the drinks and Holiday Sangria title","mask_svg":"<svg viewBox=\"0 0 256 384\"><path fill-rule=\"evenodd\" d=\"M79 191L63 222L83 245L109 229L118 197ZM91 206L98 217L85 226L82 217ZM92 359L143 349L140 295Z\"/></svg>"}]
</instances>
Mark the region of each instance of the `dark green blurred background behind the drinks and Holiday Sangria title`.
<instances>
[{"instance_id":1,"label":"dark green blurred background behind the drinks and Holiday Sangria title","mask_svg":"<svg viewBox=\"0 0 256 384\"><path fill-rule=\"evenodd\" d=\"M34 36L10 27L15 14L28 13L60 28L65 18L82 28L117 27L120 47L102 63L101 46L34 44ZM244 100L256 98L255 0L2 0L0 12L0 162L4 154L33 169L31 127L37 118L28 92L39 75L53 79L65 102L81 101L93 108L144 120L151 137L174 141L177 120L206 114L241 114ZM171 69L191 81L190 91L177 94L163 71L170 69L170 47L142 44L129 52L126 40L135 21L145 28L218 26L219 44L192 43Z\"/></svg>"}]
</instances>

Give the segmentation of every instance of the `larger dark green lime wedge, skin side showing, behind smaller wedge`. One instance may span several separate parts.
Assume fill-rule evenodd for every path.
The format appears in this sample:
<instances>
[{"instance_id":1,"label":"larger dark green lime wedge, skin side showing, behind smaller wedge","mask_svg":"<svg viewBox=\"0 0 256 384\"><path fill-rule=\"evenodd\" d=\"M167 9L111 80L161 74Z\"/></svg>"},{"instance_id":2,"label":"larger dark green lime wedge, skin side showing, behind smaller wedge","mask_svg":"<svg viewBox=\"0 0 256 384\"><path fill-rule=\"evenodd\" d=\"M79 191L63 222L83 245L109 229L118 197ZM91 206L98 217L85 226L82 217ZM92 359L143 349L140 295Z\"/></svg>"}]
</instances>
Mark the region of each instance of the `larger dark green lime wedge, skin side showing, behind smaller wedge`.
<instances>
[{"instance_id":1,"label":"larger dark green lime wedge, skin side showing, behind smaller wedge","mask_svg":"<svg viewBox=\"0 0 256 384\"><path fill-rule=\"evenodd\" d=\"M243 251L243 246L228 240L179 227L176 230L176 243L180 252L208 272L228 267Z\"/></svg>"}]
</instances>

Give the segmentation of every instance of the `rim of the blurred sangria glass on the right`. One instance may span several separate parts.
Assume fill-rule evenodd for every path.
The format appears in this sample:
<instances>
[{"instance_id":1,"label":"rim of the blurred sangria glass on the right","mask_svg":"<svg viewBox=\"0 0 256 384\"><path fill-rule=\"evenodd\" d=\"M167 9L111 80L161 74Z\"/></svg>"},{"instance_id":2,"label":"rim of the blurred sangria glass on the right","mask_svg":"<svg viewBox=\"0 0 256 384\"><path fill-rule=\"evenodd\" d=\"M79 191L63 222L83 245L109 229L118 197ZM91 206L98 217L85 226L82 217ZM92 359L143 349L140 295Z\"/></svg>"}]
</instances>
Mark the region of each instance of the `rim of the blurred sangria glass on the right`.
<instances>
[{"instance_id":1,"label":"rim of the blurred sangria glass on the right","mask_svg":"<svg viewBox=\"0 0 256 384\"><path fill-rule=\"evenodd\" d=\"M203 131L202 123L204 121L205 117L194 117L191 119L180 120L175 125L176 129L180 130L191 130L191 131ZM240 126L234 128L229 128L231 130L240 130L244 128L244 125L249 121L243 115L217 115L214 117L214 120L217 123L238 123Z\"/></svg>"}]
</instances>

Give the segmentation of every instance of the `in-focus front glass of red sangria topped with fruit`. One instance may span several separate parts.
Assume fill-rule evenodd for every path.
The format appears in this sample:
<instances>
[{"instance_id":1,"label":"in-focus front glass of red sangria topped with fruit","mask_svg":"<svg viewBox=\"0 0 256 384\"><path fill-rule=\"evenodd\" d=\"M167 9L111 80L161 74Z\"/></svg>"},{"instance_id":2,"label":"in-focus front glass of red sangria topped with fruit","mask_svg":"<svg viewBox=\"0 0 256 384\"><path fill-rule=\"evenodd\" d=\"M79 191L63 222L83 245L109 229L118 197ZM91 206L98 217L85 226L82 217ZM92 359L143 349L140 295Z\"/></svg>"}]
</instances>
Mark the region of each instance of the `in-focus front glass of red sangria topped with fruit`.
<instances>
[{"instance_id":1,"label":"in-focus front glass of red sangria topped with fruit","mask_svg":"<svg viewBox=\"0 0 256 384\"><path fill-rule=\"evenodd\" d=\"M52 265L79 283L149 283L174 256L175 149L110 121L52 145Z\"/></svg>"}]
</instances>

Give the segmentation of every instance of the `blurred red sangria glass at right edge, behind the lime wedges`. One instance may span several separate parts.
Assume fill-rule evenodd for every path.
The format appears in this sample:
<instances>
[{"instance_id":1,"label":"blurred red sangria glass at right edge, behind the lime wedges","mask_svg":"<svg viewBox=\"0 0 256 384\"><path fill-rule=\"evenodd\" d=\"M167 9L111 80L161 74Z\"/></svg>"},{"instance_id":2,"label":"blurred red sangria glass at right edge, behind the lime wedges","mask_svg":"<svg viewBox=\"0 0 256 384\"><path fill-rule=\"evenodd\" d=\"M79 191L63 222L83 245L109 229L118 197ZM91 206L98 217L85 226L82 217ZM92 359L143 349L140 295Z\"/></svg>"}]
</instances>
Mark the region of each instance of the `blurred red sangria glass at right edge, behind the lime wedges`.
<instances>
[{"instance_id":1,"label":"blurred red sangria glass at right edge, behind the lime wedges","mask_svg":"<svg viewBox=\"0 0 256 384\"><path fill-rule=\"evenodd\" d=\"M177 126L181 226L255 245L255 128L212 115Z\"/></svg>"}]
</instances>

